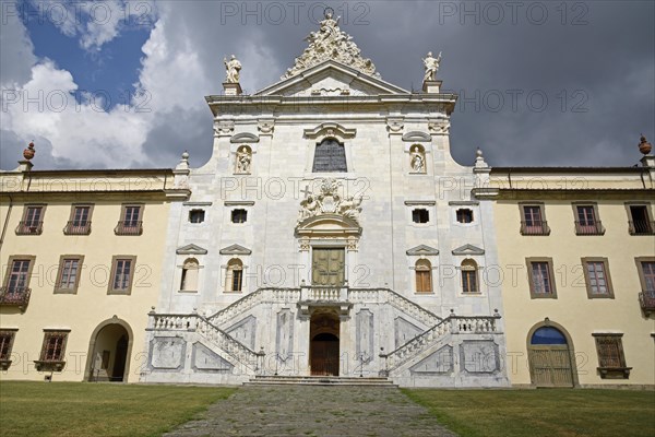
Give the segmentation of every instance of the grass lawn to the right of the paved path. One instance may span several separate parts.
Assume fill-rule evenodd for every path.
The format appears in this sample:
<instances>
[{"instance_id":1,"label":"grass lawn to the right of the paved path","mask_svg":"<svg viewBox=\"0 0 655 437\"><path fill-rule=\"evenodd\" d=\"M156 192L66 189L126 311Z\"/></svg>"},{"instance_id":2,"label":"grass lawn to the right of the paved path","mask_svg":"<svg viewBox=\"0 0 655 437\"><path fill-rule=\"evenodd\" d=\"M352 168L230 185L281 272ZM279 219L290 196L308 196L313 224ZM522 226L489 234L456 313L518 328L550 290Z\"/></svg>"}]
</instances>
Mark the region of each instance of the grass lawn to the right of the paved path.
<instances>
[{"instance_id":1,"label":"grass lawn to the right of the paved path","mask_svg":"<svg viewBox=\"0 0 655 437\"><path fill-rule=\"evenodd\" d=\"M461 436L655 436L655 392L403 390Z\"/></svg>"}]
</instances>

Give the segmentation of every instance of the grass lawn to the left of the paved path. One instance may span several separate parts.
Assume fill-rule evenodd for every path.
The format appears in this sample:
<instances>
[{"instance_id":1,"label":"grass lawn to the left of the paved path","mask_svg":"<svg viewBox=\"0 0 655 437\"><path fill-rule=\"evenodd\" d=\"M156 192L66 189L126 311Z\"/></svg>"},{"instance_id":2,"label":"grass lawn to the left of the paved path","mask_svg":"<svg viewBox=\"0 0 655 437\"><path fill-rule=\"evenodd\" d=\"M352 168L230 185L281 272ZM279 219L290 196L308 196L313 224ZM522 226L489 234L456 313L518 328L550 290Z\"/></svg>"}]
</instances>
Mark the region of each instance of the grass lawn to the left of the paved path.
<instances>
[{"instance_id":1,"label":"grass lawn to the left of the paved path","mask_svg":"<svg viewBox=\"0 0 655 437\"><path fill-rule=\"evenodd\" d=\"M159 436L235 390L0 381L0 436Z\"/></svg>"}]
</instances>

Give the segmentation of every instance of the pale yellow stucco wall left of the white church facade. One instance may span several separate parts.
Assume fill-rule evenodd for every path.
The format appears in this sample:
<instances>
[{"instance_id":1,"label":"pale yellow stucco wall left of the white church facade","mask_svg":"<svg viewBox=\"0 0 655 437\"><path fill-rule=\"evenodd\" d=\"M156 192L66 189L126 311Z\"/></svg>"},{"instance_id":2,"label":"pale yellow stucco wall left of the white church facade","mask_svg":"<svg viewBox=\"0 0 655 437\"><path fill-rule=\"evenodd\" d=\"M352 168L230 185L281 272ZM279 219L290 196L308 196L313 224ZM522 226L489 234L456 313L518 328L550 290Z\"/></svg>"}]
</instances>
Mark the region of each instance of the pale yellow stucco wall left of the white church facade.
<instances>
[{"instance_id":1,"label":"pale yellow stucco wall left of the white church facade","mask_svg":"<svg viewBox=\"0 0 655 437\"><path fill-rule=\"evenodd\" d=\"M66 175L61 179L67 180ZM110 186L116 192L111 193L93 190L51 193L47 189L40 193L5 193L12 194L13 208L1 248L1 283L4 285L11 256L35 256L36 260L29 282L32 296L25 311L21 312L16 307L0 307L0 328L17 328L12 365L8 371L0 373L0 378L43 380L50 373L37 371L34 361L39 359L44 329L61 328L70 329L66 346L67 366L63 371L56 371L52 379L83 380L92 333L102 322L117 317L129 324L133 334L130 339L128 381L139 380L141 366L145 363L143 349L147 312L156 305L159 292L169 203L164 191L139 191L143 187L134 185L126 189L128 182L127 178L112 178ZM35 184L31 188L37 186ZM8 216L9 202L9 196L2 196L1 224ZM114 228L121 220L121 205L127 202L144 204L143 234L140 236L115 235ZM25 203L47 204L41 235L15 234ZM91 235L63 234L72 203L94 204ZM53 293L61 255L84 256L76 294ZM136 257L130 295L107 293L111 258L117 255Z\"/></svg>"}]
</instances>

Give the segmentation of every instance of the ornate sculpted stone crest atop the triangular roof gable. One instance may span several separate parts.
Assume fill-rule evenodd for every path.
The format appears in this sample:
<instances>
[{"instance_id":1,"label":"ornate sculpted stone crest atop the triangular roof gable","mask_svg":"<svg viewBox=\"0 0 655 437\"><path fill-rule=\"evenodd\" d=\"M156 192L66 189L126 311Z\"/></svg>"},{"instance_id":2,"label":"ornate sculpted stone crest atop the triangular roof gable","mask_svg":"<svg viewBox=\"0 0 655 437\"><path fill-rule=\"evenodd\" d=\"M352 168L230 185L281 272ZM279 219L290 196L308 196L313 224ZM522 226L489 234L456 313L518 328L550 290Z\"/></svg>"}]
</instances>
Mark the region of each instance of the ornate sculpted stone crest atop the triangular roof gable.
<instances>
[{"instance_id":1,"label":"ornate sculpted stone crest atop the triangular roof gable","mask_svg":"<svg viewBox=\"0 0 655 437\"><path fill-rule=\"evenodd\" d=\"M294 67L287 70L282 79L293 78L311 67L333 59L345 66L352 67L365 74L379 78L376 66L370 59L361 56L361 50L352 40L353 37L338 27L338 21L333 17L334 11L325 10L325 20L321 21L321 28L311 32L307 38L309 47L296 58Z\"/></svg>"}]
</instances>

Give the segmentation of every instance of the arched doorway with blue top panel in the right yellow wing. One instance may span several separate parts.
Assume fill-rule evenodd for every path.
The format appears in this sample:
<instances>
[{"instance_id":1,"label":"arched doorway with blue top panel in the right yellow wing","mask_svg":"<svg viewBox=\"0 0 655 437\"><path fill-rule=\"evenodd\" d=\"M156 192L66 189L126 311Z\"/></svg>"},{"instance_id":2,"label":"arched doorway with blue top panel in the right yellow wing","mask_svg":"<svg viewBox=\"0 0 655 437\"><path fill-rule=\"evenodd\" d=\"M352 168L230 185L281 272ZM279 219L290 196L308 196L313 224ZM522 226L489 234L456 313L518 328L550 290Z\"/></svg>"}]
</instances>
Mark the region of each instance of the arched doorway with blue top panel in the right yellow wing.
<instances>
[{"instance_id":1,"label":"arched doorway with blue top panel in the right yellow wing","mask_svg":"<svg viewBox=\"0 0 655 437\"><path fill-rule=\"evenodd\" d=\"M557 323L539 323L527 335L529 375L535 387L574 387L575 355L567 331Z\"/></svg>"}]
</instances>

